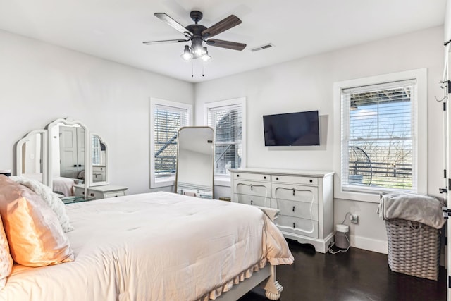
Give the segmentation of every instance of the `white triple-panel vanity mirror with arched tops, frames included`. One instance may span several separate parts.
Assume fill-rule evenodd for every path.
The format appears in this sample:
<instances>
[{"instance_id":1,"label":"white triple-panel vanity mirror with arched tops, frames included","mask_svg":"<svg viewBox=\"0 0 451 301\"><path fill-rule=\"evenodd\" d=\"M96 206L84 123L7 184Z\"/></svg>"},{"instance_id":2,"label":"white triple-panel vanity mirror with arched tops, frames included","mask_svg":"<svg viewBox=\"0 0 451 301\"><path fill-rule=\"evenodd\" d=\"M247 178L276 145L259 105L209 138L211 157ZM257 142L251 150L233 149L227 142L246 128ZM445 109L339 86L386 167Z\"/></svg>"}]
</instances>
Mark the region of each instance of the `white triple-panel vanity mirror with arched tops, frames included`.
<instances>
[{"instance_id":1,"label":"white triple-panel vanity mirror with arched tops, frames included","mask_svg":"<svg viewBox=\"0 0 451 301\"><path fill-rule=\"evenodd\" d=\"M107 146L80 121L60 118L32 130L16 145L16 175L39 180L54 192L74 195L74 185L108 185ZM87 164L86 164L87 163Z\"/></svg>"}]
</instances>

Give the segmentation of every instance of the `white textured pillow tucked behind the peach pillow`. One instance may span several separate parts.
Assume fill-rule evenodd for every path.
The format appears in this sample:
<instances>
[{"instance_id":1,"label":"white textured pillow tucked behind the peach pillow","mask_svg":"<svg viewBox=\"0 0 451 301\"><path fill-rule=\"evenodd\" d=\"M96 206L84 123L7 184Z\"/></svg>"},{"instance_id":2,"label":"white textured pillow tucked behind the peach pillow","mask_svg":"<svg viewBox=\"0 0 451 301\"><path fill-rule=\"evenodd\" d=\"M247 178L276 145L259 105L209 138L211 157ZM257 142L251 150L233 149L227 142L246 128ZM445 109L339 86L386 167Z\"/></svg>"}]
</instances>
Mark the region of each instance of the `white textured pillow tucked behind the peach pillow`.
<instances>
[{"instance_id":1,"label":"white textured pillow tucked behind the peach pillow","mask_svg":"<svg viewBox=\"0 0 451 301\"><path fill-rule=\"evenodd\" d=\"M44 202L46 202L50 209L55 212L56 217L58 217L59 223L61 223L61 227L64 232L73 231L73 226L70 225L69 217L66 214L66 207L64 207L63 201L54 194L51 189L39 182L38 180L33 180L30 178L25 178L23 176L11 176L9 177L11 180L20 183L27 188L33 190L39 197L41 197Z\"/></svg>"}]
</instances>

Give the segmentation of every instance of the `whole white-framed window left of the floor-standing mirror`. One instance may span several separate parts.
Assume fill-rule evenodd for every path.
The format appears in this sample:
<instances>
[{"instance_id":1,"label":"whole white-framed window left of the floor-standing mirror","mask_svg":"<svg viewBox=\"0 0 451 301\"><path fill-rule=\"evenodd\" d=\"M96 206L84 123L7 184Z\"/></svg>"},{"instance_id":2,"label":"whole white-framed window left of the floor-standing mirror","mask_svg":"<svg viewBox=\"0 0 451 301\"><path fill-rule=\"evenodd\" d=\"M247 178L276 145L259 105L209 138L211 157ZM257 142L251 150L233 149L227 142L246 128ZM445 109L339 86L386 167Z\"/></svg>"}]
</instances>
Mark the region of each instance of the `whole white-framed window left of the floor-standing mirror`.
<instances>
[{"instance_id":1,"label":"whole white-framed window left of the floor-standing mirror","mask_svg":"<svg viewBox=\"0 0 451 301\"><path fill-rule=\"evenodd\" d=\"M177 134L190 125L191 105L150 100L150 188L174 185Z\"/></svg>"}]
</instances>

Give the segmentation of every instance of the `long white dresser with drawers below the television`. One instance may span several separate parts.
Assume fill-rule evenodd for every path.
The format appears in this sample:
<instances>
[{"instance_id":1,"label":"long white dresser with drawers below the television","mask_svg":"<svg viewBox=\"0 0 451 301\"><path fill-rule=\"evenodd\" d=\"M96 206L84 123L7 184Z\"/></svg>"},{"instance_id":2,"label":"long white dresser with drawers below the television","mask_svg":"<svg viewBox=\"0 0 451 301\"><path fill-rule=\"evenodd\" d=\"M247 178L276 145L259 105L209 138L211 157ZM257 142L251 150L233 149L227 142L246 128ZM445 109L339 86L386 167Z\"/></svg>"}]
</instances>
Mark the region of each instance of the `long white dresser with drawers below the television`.
<instances>
[{"instance_id":1,"label":"long white dresser with drawers below the television","mask_svg":"<svg viewBox=\"0 0 451 301\"><path fill-rule=\"evenodd\" d=\"M280 210L285 238L325 253L333 240L333 172L231 169L232 202Z\"/></svg>"}]
</instances>

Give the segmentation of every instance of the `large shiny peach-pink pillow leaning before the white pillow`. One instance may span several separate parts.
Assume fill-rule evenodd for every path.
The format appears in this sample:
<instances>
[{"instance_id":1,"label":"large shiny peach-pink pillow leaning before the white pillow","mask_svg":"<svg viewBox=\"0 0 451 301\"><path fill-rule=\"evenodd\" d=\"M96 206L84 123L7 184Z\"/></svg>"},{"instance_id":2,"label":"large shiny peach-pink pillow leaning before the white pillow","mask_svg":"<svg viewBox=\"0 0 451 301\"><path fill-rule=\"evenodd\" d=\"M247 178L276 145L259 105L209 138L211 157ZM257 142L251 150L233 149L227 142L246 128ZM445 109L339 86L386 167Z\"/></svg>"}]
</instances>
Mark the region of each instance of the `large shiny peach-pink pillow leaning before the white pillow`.
<instances>
[{"instance_id":1,"label":"large shiny peach-pink pillow leaning before the white pillow","mask_svg":"<svg viewBox=\"0 0 451 301\"><path fill-rule=\"evenodd\" d=\"M74 259L54 211L39 195L0 175L0 215L11 256L23 266L47 266Z\"/></svg>"}]
</instances>

